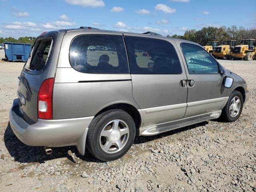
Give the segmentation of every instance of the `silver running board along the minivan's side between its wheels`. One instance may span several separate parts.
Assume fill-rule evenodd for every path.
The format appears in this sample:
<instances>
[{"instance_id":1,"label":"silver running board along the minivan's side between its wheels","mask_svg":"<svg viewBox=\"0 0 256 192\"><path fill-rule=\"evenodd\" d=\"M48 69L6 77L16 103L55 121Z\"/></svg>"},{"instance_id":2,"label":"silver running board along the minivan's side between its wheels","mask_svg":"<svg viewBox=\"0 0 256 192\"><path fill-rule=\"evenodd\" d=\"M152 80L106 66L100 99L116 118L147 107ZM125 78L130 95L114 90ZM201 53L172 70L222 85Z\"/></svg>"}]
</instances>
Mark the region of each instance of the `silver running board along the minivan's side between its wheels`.
<instances>
[{"instance_id":1,"label":"silver running board along the minivan's side between its wheels","mask_svg":"<svg viewBox=\"0 0 256 192\"><path fill-rule=\"evenodd\" d=\"M200 117L200 118L195 118L195 119L190 119L190 120L186 120L186 121L182 121L182 122L168 124L165 126L158 126L158 127L152 126L152 127L148 127L148 128L142 128L142 129L140 129L140 135L142 135L142 136L157 135L159 133L186 127L186 126L189 126L192 124L204 122L206 120L215 119L215 118L216 118L215 116L204 116L204 117Z\"/></svg>"}]
</instances>

